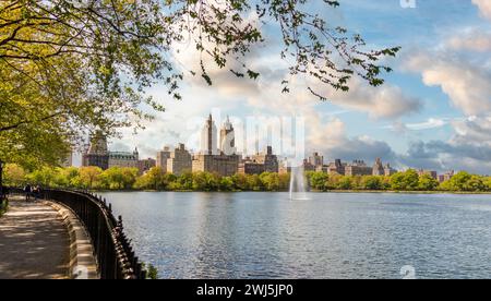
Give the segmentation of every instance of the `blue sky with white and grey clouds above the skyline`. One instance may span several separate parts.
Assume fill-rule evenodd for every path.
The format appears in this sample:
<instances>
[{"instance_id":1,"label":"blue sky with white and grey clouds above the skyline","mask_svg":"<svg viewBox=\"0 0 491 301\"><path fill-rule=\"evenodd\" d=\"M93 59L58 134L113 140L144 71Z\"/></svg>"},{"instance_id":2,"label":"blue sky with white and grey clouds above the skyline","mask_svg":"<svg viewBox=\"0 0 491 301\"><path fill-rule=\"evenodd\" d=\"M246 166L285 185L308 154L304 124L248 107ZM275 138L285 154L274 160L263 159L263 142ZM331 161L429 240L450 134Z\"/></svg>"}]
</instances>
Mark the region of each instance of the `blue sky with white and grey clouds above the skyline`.
<instances>
[{"instance_id":1,"label":"blue sky with white and grey clouds above the skyline","mask_svg":"<svg viewBox=\"0 0 491 301\"><path fill-rule=\"evenodd\" d=\"M491 0L340 0L337 9L320 2L312 9L330 24L361 34L370 46L403 47L386 61L394 72L384 75L383 86L354 79L348 93L319 87L328 95L322 103L307 91L306 79L296 77L291 92L283 94L286 65L277 31L265 25L266 43L244 59L261 72L258 81L236 79L229 67L211 67L214 85L187 73L181 101L156 85L147 93L166 111L137 134L123 130L110 149L139 147L141 157L155 157L164 146L182 142L195 150L211 112L218 125L230 116L236 129L251 117L302 117L306 152L319 152L328 161L372 164L381 157L400 169L490 174ZM199 53L189 44L173 51L181 70L199 68Z\"/></svg>"}]
</instances>

